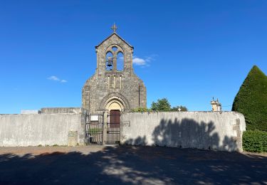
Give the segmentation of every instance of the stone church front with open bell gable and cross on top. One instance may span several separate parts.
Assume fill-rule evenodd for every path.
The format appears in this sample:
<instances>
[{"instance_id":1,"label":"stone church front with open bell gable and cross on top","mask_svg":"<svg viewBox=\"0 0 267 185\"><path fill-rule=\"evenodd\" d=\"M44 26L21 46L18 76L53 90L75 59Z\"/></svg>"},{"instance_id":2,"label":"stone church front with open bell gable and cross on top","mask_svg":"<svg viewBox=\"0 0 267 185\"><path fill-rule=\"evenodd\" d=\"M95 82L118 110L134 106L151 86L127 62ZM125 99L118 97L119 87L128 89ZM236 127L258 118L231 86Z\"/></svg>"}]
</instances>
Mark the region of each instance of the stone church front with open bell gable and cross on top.
<instances>
[{"instance_id":1,"label":"stone church front with open bell gable and cross on top","mask_svg":"<svg viewBox=\"0 0 267 185\"><path fill-rule=\"evenodd\" d=\"M83 108L89 112L147 107L147 90L132 68L133 47L113 33L95 46L97 68L83 86Z\"/></svg>"}]
</instances>

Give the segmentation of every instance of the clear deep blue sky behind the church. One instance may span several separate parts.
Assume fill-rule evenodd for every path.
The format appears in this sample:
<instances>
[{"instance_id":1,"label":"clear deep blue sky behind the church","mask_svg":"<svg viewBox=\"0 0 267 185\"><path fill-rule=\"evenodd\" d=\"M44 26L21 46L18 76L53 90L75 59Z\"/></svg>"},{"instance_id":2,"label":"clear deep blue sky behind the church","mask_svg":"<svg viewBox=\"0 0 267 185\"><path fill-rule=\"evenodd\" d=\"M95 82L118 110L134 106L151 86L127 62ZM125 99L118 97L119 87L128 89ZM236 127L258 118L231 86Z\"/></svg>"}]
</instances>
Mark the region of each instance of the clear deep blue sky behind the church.
<instances>
[{"instance_id":1,"label":"clear deep blue sky behind the church","mask_svg":"<svg viewBox=\"0 0 267 185\"><path fill-rule=\"evenodd\" d=\"M147 106L231 105L253 65L267 73L267 1L0 1L0 113L80 107L95 46L117 24L135 47Z\"/></svg>"}]
</instances>

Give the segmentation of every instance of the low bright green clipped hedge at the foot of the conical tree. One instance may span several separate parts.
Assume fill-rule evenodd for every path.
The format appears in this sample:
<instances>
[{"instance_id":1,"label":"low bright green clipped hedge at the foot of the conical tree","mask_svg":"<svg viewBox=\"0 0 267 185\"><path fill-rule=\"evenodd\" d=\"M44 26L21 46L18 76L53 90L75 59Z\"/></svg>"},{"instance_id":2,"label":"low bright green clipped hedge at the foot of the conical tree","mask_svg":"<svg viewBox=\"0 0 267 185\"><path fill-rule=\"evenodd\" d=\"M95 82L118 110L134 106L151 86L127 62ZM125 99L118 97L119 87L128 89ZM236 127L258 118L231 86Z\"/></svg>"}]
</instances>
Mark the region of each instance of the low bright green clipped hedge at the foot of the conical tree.
<instances>
[{"instance_id":1,"label":"low bright green clipped hedge at the foot of the conical tree","mask_svg":"<svg viewBox=\"0 0 267 185\"><path fill-rule=\"evenodd\" d=\"M243 149L247 152L267 152L267 132L259 130L243 132Z\"/></svg>"}]
</instances>

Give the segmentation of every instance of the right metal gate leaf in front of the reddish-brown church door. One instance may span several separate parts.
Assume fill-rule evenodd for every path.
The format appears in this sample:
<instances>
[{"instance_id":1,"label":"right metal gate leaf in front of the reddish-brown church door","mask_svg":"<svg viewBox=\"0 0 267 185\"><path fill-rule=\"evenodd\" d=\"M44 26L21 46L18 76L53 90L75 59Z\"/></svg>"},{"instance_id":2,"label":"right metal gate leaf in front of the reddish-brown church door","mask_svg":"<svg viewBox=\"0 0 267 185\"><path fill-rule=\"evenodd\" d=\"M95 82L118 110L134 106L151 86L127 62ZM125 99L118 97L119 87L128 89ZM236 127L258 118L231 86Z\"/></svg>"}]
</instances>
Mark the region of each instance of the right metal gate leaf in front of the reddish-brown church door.
<instances>
[{"instance_id":1,"label":"right metal gate leaf in front of the reddish-brown church door","mask_svg":"<svg viewBox=\"0 0 267 185\"><path fill-rule=\"evenodd\" d=\"M120 144L120 110L110 110L106 142L108 144Z\"/></svg>"}]
</instances>

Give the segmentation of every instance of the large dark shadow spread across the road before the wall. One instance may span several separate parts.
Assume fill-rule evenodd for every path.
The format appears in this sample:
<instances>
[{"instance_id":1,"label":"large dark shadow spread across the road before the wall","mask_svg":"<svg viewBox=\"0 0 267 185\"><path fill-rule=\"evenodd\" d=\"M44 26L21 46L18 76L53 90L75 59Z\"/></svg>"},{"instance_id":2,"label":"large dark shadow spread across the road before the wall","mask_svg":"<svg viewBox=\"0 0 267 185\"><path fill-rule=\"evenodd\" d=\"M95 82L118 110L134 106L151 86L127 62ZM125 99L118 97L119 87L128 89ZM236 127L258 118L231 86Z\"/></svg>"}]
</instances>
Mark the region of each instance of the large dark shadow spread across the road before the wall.
<instances>
[{"instance_id":1,"label":"large dark shadow spread across the road before the wall","mask_svg":"<svg viewBox=\"0 0 267 185\"><path fill-rule=\"evenodd\" d=\"M267 157L126 145L89 154L0 155L0 184L251 183L267 183Z\"/></svg>"}]
</instances>

